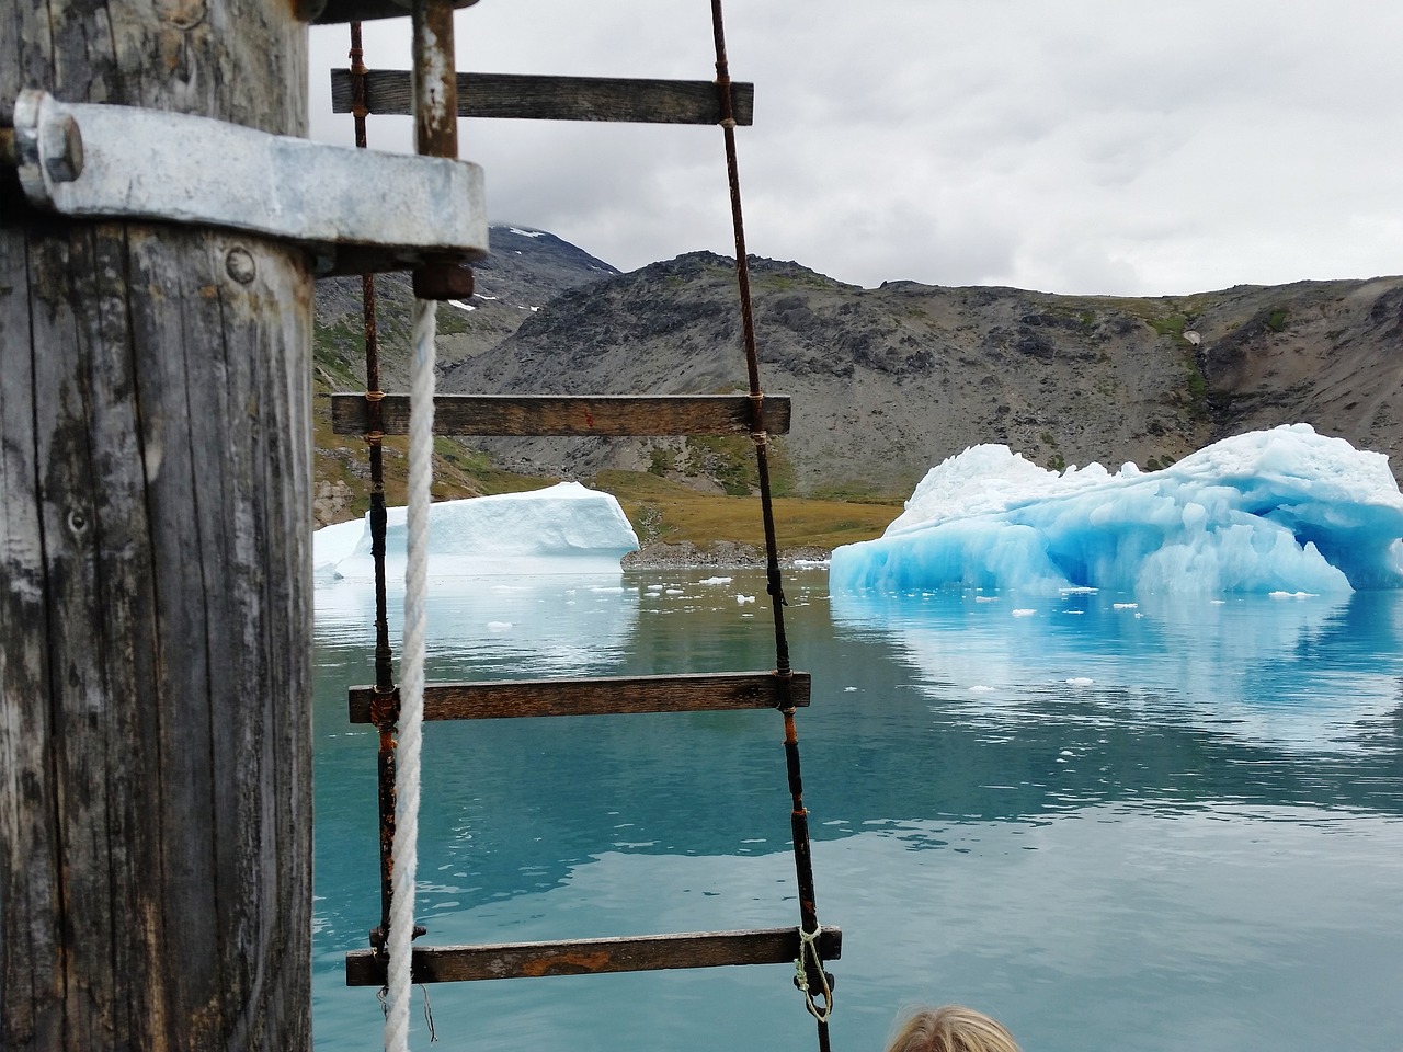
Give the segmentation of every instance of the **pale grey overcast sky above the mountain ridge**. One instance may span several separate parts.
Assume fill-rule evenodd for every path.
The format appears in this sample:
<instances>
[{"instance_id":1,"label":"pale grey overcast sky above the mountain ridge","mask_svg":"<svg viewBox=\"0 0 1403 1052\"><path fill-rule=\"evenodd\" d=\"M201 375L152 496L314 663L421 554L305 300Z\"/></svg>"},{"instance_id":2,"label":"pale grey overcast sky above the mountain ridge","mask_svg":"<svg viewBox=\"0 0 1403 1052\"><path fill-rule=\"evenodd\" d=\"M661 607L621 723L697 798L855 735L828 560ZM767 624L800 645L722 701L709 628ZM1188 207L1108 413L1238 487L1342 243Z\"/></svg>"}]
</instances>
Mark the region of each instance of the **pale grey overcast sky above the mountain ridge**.
<instances>
[{"instance_id":1,"label":"pale grey overcast sky above the mountain ridge","mask_svg":"<svg viewBox=\"0 0 1403 1052\"><path fill-rule=\"evenodd\" d=\"M1167 295L1403 272L1399 0L730 0L749 251L845 282ZM366 65L408 67L408 20ZM351 142L311 36L311 135ZM460 70L710 80L709 0L480 0ZM408 118L370 146L410 149ZM464 121L492 222L734 252L714 128Z\"/></svg>"}]
</instances>

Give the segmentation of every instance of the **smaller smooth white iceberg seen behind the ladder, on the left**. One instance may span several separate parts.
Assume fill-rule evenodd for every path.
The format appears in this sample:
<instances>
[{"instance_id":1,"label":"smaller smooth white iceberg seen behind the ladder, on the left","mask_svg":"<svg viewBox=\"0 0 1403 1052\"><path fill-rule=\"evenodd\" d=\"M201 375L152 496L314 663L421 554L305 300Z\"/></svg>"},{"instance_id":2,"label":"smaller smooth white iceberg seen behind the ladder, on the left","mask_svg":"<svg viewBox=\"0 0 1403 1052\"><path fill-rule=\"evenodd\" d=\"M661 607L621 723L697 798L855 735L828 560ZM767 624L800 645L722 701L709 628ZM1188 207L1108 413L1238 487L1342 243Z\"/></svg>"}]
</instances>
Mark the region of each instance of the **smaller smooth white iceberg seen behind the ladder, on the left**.
<instances>
[{"instance_id":1,"label":"smaller smooth white iceberg seen behind the ladder, on the left","mask_svg":"<svg viewBox=\"0 0 1403 1052\"><path fill-rule=\"evenodd\" d=\"M386 509L386 576L404 579L405 509ZM612 494L579 483L429 506L429 575L607 574L638 550ZM373 579L370 518L313 534L317 581Z\"/></svg>"}]
</instances>

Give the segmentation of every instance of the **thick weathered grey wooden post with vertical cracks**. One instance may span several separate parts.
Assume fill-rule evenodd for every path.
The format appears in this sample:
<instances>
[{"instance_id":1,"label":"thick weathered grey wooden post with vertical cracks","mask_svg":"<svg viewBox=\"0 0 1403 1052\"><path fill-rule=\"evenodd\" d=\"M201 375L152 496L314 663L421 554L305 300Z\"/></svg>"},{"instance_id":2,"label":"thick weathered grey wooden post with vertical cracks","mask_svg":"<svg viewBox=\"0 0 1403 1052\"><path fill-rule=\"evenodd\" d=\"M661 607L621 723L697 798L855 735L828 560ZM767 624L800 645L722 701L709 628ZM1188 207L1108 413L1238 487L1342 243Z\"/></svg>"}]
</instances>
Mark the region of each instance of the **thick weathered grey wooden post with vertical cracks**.
<instances>
[{"instance_id":1,"label":"thick weathered grey wooden post with vertical cracks","mask_svg":"<svg viewBox=\"0 0 1403 1052\"><path fill-rule=\"evenodd\" d=\"M13 0L21 88L303 133L290 0ZM219 157L199 159L217 166ZM310 1046L302 254L0 170L0 1048Z\"/></svg>"}]
</instances>

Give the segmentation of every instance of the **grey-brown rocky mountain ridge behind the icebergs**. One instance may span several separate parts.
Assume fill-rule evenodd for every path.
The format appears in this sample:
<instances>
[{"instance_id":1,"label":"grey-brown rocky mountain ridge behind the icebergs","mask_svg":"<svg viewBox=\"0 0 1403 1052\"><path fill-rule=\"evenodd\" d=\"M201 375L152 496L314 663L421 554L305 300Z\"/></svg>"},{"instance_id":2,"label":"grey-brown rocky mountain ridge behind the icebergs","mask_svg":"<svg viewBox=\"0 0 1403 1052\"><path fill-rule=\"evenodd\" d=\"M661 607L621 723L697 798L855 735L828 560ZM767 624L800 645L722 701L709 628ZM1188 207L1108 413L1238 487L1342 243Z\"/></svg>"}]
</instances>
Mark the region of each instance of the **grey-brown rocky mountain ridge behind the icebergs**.
<instances>
[{"instance_id":1,"label":"grey-brown rocky mountain ridge behind the icebergs","mask_svg":"<svg viewBox=\"0 0 1403 1052\"><path fill-rule=\"evenodd\" d=\"M492 240L478 296L463 304L473 310L441 310L441 390L745 390L732 261L693 252L617 274L540 231L494 227ZM1385 453L1403 438L1403 278L1132 299L861 289L794 262L751 268L762 380L793 397L774 463L796 495L902 497L978 442L1051 467L1153 468L1282 422ZM397 296L382 321L391 344L407 289ZM318 295L323 331L351 313L340 293L325 309ZM358 300L354 314L359 324ZM403 339L386 353L403 360ZM403 390L396 370L387 366L386 390L391 380ZM751 453L744 439L492 439L463 457L471 470L589 477L612 467L734 492L748 485Z\"/></svg>"}]
</instances>

